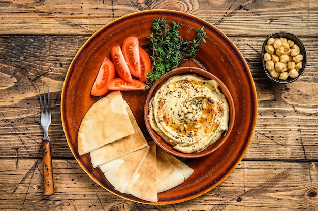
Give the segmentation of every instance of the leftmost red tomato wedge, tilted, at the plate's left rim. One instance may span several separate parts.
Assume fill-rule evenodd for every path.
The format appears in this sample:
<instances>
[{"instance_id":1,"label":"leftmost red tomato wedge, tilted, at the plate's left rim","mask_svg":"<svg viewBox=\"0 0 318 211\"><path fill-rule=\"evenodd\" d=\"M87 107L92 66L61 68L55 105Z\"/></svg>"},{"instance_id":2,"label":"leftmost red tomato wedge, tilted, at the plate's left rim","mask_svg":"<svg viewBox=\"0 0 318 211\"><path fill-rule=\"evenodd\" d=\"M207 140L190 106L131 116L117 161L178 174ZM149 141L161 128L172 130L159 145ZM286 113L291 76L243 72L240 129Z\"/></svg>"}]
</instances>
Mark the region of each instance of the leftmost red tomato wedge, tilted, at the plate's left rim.
<instances>
[{"instance_id":1,"label":"leftmost red tomato wedge, tilted, at the plate's left rim","mask_svg":"<svg viewBox=\"0 0 318 211\"><path fill-rule=\"evenodd\" d=\"M90 94L94 96L102 96L108 92L107 84L115 78L115 67L113 62L107 57L104 58L102 65L98 71L97 77L93 84Z\"/></svg>"}]
</instances>

